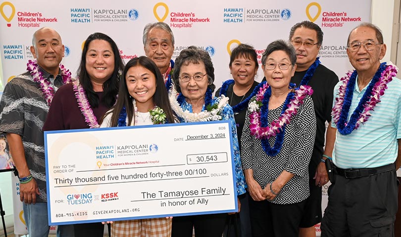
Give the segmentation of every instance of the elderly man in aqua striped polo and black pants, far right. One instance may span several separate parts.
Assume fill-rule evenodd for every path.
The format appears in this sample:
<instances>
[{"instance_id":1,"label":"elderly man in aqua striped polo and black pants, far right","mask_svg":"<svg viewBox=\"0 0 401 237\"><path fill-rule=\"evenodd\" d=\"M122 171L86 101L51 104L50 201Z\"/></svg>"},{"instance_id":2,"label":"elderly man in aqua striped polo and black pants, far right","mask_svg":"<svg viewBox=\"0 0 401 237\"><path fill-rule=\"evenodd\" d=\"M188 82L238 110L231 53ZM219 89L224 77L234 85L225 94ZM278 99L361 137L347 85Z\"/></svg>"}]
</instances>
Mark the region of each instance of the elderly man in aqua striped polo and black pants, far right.
<instances>
[{"instance_id":1,"label":"elderly man in aqua striped polo and black pants, far right","mask_svg":"<svg viewBox=\"0 0 401 237\"><path fill-rule=\"evenodd\" d=\"M322 237L394 236L401 164L401 80L380 63L386 44L378 27L362 23L348 37L352 66L335 87L334 179Z\"/></svg>"}]
</instances>

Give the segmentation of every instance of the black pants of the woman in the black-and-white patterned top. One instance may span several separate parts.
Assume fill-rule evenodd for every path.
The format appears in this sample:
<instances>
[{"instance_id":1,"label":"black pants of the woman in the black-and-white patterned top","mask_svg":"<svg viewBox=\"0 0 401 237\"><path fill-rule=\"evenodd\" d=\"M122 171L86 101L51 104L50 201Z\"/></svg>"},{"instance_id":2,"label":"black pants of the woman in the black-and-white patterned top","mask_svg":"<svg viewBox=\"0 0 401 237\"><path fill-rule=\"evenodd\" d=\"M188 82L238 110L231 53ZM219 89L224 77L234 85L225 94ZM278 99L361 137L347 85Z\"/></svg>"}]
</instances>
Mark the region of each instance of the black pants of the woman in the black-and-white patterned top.
<instances>
[{"instance_id":1,"label":"black pants of the woman in the black-and-white patterned top","mask_svg":"<svg viewBox=\"0 0 401 237\"><path fill-rule=\"evenodd\" d=\"M250 198L253 237L298 237L306 200L294 204L274 204Z\"/></svg>"}]
</instances>

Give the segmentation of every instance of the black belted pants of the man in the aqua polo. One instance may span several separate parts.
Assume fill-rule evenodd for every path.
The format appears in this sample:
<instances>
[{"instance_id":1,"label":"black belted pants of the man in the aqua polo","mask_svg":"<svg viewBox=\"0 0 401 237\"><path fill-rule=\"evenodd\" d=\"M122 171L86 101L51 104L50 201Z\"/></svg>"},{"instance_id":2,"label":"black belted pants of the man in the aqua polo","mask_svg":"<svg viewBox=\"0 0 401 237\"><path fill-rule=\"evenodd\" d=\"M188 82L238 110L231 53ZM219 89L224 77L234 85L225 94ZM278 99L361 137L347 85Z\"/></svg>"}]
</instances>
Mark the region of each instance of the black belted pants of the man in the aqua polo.
<instances>
[{"instance_id":1,"label":"black belted pants of the man in the aqua polo","mask_svg":"<svg viewBox=\"0 0 401 237\"><path fill-rule=\"evenodd\" d=\"M396 171L347 179L329 187L322 237L392 237L398 209Z\"/></svg>"}]
</instances>

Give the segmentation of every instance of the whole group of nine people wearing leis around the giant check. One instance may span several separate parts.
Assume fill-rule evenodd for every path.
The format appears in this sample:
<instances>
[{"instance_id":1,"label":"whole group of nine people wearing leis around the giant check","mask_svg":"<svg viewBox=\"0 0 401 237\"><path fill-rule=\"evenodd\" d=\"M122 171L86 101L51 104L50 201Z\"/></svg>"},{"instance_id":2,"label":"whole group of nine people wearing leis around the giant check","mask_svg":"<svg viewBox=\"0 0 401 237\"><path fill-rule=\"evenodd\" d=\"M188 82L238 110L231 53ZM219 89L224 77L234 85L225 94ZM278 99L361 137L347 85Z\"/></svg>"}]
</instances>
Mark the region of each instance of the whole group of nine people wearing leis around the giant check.
<instances>
[{"instance_id":1,"label":"whole group of nine people wearing leis around the giant check","mask_svg":"<svg viewBox=\"0 0 401 237\"><path fill-rule=\"evenodd\" d=\"M49 234L43 131L213 119L232 128L239 212L116 221L111 236L192 237L195 229L196 237L311 237L320 222L324 237L394 235L401 81L396 67L380 63L380 29L363 23L351 31L347 54L355 71L340 81L317 57L323 32L312 22L267 45L260 83L255 49L239 44L230 56L233 79L215 96L206 51L190 46L171 60L174 35L163 22L145 26L143 42L146 56L124 65L114 40L94 33L72 77L60 64L59 34L34 33L36 60L7 83L0 103L0 131L18 170L31 237ZM103 228L60 225L57 236L100 237Z\"/></svg>"}]
</instances>

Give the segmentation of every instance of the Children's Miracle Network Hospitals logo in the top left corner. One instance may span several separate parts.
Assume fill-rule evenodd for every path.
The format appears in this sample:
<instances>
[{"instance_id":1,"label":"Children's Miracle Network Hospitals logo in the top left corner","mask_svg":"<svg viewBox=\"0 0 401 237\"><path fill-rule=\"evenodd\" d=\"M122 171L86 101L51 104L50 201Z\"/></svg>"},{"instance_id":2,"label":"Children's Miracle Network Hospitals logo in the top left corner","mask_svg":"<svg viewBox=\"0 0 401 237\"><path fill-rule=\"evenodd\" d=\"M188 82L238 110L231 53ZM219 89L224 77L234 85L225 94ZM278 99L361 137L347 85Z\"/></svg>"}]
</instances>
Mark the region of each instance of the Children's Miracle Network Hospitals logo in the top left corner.
<instances>
[{"instance_id":1,"label":"Children's Miracle Network Hospitals logo in the top left corner","mask_svg":"<svg viewBox=\"0 0 401 237\"><path fill-rule=\"evenodd\" d=\"M16 11L15 6L9 2L4 1L0 4L0 14L2 18L7 22L7 27L11 27L12 20L14 18L17 19L17 27L22 28L32 28L32 27L41 27L42 23L57 23L57 17L47 17L45 13L37 11ZM15 17L15 15L17 17Z\"/></svg>"}]
</instances>

